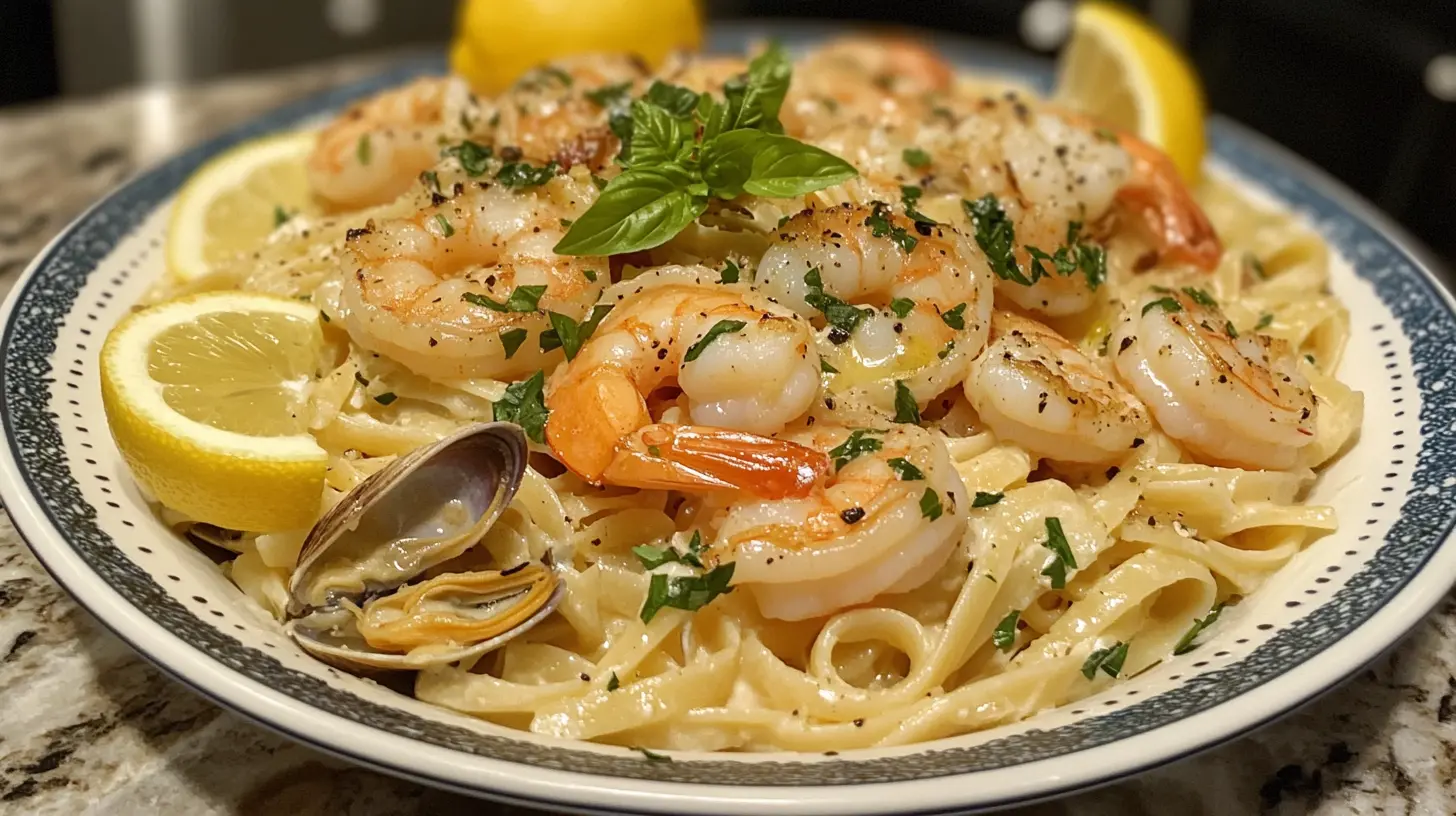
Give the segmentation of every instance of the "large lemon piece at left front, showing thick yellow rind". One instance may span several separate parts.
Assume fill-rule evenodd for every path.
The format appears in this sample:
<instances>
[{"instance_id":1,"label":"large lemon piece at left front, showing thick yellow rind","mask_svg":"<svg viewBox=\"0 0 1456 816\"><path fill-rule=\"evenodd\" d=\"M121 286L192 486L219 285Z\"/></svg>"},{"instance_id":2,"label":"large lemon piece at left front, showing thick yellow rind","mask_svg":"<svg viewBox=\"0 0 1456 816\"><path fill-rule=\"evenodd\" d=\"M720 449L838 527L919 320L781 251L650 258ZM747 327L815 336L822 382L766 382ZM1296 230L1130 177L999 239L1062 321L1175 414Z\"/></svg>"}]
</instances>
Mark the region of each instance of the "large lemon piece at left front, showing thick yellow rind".
<instances>
[{"instance_id":1,"label":"large lemon piece at left front, showing thick yellow rind","mask_svg":"<svg viewBox=\"0 0 1456 816\"><path fill-rule=\"evenodd\" d=\"M116 447L153 498L191 519L307 527L326 466L307 430L322 347L317 309L266 294L197 294L130 315L100 353Z\"/></svg>"}]
</instances>

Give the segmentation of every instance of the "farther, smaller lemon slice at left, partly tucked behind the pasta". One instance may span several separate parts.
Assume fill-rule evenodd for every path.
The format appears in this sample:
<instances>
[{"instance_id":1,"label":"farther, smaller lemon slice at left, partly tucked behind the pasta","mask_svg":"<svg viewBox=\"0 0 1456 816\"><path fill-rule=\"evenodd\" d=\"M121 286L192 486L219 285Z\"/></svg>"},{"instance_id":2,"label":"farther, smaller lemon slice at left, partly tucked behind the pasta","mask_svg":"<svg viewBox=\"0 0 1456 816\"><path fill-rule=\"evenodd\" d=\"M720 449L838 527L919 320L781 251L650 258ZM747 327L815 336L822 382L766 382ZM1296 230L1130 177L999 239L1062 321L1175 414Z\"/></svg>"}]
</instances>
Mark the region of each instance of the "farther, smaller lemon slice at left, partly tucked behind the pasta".
<instances>
[{"instance_id":1,"label":"farther, smaller lemon slice at left, partly tucked behind the pasta","mask_svg":"<svg viewBox=\"0 0 1456 816\"><path fill-rule=\"evenodd\" d=\"M202 165L172 205L167 268L181 280L252 252L278 224L317 214L304 160L313 131L259 138Z\"/></svg>"}]
</instances>

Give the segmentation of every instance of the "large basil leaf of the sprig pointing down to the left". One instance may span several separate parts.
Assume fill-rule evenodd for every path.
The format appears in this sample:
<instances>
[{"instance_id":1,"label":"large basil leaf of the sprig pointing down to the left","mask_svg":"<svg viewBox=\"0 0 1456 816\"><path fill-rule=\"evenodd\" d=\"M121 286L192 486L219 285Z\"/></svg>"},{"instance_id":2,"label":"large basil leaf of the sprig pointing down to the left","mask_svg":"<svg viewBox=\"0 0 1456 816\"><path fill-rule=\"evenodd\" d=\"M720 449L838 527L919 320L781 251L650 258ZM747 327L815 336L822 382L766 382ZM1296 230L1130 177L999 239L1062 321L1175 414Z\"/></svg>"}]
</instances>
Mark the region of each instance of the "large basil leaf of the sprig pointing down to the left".
<instances>
[{"instance_id":1,"label":"large basil leaf of the sprig pointing down to the left","mask_svg":"<svg viewBox=\"0 0 1456 816\"><path fill-rule=\"evenodd\" d=\"M630 169L571 224L555 251L562 255L616 255L667 243L708 208L689 192L693 176L674 165Z\"/></svg>"}]
</instances>

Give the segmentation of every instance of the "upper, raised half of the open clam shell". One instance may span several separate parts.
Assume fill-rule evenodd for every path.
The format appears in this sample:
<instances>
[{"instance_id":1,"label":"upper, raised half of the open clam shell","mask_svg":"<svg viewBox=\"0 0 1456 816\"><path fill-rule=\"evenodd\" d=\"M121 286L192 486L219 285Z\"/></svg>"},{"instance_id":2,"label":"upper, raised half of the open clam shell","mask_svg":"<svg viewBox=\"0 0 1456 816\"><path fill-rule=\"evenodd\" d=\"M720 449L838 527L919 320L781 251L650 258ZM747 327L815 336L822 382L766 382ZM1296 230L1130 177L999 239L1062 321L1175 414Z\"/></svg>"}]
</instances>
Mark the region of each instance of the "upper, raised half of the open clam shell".
<instances>
[{"instance_id":1,"label":"upper, raised half of the open clam shell","mask_svg":"<svg viewBox=\"0 0 1456 816\"><path fill-rule=\"evenodd\" d=\"M304 539L288 583L290 616L358 605L475 546L515 497L527 453L518 425L485 423L365 479Z\"/></svg>"}]
</instances>

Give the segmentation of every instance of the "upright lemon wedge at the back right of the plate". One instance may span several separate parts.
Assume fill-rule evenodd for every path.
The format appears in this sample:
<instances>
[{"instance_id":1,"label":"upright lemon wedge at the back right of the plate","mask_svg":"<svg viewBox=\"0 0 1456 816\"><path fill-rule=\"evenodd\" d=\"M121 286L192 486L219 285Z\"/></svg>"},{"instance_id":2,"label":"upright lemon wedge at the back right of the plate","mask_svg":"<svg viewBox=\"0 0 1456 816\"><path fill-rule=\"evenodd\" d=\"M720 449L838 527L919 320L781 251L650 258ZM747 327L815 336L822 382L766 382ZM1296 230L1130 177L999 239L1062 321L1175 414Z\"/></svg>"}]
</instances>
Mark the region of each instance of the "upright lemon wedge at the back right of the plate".
<instances>
[{"instance_id":1,"label":"upright lemon wedge at the back right of the plate","mask_svg":"<svg viewBox=\"0 0 1456 816\"><path fill-rule=\"evenodd\" d=\"M1077 6L1057 68L1054 99L1156 144L1190 184L1204 153L1198 73L1136 13L1109 3Z\"/></svg>"}]
</instances>

